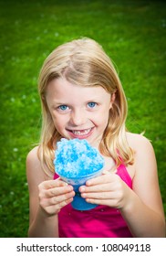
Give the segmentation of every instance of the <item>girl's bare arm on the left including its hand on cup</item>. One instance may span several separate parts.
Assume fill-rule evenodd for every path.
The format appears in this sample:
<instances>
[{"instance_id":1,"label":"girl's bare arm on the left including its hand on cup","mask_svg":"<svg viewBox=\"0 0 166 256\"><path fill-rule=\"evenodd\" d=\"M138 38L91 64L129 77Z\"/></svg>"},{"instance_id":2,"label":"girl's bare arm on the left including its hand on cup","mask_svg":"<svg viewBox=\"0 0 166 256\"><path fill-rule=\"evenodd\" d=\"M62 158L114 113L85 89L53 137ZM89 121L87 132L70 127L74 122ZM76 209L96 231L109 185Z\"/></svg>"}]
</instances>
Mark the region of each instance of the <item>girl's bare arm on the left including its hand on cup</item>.
<instances>
[{"instance_id":1,"label":"girl's bare arm on the left including its hand on cup","mask_svg":"<svg viewBox=\"0 0 166 256\"><path fill-rule=\"evenodd\" d=\"M29 237L58 237L57 214L72 201L73 188L59 179L48 178L37 158L37 147L26 158L29 187Z\"/></svg>"}]
</instances>

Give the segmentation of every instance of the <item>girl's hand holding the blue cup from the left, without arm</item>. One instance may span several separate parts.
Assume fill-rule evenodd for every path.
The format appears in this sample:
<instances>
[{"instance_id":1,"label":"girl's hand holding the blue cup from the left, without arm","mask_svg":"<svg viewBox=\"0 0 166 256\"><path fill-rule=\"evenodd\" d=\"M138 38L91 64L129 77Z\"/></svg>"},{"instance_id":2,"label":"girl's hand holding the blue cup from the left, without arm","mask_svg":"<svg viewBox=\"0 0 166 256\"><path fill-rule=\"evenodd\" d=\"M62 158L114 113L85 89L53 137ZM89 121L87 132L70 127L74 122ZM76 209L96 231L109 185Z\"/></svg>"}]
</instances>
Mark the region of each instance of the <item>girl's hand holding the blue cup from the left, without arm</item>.
<instances>
[{"instance_id":1,"label":"girl's hand holding the blue cup from the left, without arm","mask_svg":"<svg viewBox=\"0 0 166 256\"><path fill-rule=\"evenodd\" d=\"M61 208L72 202L75 192L60 178L39 184L39 205L48 216L56 215Z\"/></svg>"}]
</instances>

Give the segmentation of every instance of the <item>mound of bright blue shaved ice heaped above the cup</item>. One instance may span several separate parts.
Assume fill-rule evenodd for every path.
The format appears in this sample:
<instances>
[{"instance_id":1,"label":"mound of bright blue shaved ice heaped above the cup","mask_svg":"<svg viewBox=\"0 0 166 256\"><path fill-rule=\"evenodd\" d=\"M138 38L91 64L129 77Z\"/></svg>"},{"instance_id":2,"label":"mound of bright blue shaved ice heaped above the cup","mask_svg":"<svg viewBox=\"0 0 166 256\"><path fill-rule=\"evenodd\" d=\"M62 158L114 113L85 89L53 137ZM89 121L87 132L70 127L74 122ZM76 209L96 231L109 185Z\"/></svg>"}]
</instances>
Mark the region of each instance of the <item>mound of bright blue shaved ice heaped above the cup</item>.
<instances>
[{"instance_id":1,"label":"mound of bright blue shaved ice heaped above the cup","mask_svg":"<svg viewBox=\"0 0 166 256\"><path fill-rule=\"evenodd\" d=\"M90 146L86 140L61 139L57 143L56 172L66 177L87 176L95 173L104 165L104 159L99 151Z\"/></svg>"}]
</instances>

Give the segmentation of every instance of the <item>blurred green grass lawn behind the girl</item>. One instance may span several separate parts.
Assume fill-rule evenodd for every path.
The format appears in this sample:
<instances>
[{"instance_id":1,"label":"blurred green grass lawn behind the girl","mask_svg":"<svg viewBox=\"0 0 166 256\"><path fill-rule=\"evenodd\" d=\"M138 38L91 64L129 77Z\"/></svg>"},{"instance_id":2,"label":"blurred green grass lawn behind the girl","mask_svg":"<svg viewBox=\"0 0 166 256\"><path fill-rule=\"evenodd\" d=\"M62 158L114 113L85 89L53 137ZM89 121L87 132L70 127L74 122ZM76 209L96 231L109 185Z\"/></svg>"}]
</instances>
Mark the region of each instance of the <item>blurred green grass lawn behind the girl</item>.
<instances>
[{"instance_id":1,"label":"blurred green grass lawn behind the girl","mask_svg":"<svg viewBox=\"0 0 166 256\"><path fill-rule=\"evenodd\" d=\"M27 236L26 155L41 124L38 72L54 48L78 37L97 40L116 63L127 126L153 144L166 211L165 36L160 0L0 0L0 237Z\"/></svg>"}]
</instances>

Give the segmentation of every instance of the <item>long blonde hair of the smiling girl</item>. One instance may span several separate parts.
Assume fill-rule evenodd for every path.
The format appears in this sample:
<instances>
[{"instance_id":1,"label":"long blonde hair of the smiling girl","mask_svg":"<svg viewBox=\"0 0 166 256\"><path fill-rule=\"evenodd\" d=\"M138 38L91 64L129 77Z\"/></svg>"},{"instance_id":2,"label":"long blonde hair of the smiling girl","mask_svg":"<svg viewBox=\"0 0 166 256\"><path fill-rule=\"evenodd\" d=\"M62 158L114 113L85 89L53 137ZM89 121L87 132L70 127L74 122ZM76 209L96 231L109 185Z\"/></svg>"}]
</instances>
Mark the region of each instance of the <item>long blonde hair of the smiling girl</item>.
<instances>
[{"instance_id":1,"label":"long blonde hair of the smiling girl","mask_svg":"<svg viewBox=\"0 0 166 256\"><path fill-rule=\"evenodd\" d=\"M38 91L41 98L43 123L39 157L42 166L54 172L54 145L61 138L47 107L47 85L51 80L64 77L83 87L101 86L116 98L109 111L109 122L99 144L101 154L111 156L117 165L133 164L133 152L126 139L127 101L119 76L112 61L93 39L80 38L67 42L47 57L39 74Z\"/></svg>"}]
</instances>

